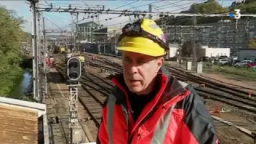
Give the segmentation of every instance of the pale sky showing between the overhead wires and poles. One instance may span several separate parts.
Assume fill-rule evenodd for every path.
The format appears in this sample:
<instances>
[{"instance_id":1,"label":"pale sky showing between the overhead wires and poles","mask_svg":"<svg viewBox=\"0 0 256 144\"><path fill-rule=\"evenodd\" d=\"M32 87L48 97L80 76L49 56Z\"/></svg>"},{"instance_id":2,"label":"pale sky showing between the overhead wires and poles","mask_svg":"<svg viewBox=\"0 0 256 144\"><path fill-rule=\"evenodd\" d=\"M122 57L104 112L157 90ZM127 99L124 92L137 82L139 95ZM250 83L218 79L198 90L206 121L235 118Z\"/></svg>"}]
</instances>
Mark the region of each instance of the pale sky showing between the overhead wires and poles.
<instances>
[{"instance_id":1,"label":"pale sky showing between the overhead wires and poles","mask_svg":"<svg viewBox=\"0 0 256 144\"><path fill-rule=\"evenodd\" d=\"M98 0L72 0L72 1L49 1L49 0L40 0L40 7L49 6L50 3L53 3L54 6L83 6L83 7L96 7L97 5L104 5L106 8L119 8L118 10L148 10L148 4L152 3L152 11L169 11L169 12L179 12L182 10L189 9L190 5L196 2L206 2L203 0L105 0L105 1L98 1ZM223 1L223 6L230 6L230 3L234 2L232 0L225 0ZM128 5L131 3L130 5ZM222 4L222 1L219 2ZM31 20L32 14L30 12L30 4L27 4L24 0L10 0L10 1L0 1L0 5L6 6L7 9L15 10L18 13L18 16L23 17L26 19L26 24L23 26L23 30L26 32L31 32ZM71 21L71 14L68 13L58 13L58 12L43 12L43 16L46 19L46 30L55 30L55 29L70 29L72 25ZM88 18L89 16L89 18ZM82 20L85 18L84 20ZM105 20L106 18L112 18L111 20ZM131 20L134 20L133 17L130 17ZM130 21L129 17L118 17L117 14L102 14L99 16L100 24L103 26L108 26L111 29L116 29L122 27L127 22ZM159 18L155 16L154 18ZM78 14L78 23L82 22L89 22L93 19L90 18L88 14ZM95 21L95 19L94 19ZM95 21L97 22L97 21Z\"/></svg>"}]
</instances>

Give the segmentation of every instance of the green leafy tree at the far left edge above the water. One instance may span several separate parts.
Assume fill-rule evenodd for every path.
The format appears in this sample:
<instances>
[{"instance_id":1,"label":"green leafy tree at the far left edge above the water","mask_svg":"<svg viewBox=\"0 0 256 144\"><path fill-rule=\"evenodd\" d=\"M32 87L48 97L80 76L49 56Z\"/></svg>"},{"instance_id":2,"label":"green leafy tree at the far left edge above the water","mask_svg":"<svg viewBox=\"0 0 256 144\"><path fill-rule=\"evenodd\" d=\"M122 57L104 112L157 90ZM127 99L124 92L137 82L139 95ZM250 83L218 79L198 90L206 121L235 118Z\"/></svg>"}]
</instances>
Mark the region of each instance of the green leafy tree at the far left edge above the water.
<instances>
[{"instance_id":1,"label":"green leafy tree at the far left edge above the water","mask_svg":"<svg viewBox=\"0 0 256 144\"><path fill-rule=\"evenodd\" d=\"M0 96L7 96L22 74L20 41L22 23L15 11L0 6Z\"/></svg>"}]
</instances>

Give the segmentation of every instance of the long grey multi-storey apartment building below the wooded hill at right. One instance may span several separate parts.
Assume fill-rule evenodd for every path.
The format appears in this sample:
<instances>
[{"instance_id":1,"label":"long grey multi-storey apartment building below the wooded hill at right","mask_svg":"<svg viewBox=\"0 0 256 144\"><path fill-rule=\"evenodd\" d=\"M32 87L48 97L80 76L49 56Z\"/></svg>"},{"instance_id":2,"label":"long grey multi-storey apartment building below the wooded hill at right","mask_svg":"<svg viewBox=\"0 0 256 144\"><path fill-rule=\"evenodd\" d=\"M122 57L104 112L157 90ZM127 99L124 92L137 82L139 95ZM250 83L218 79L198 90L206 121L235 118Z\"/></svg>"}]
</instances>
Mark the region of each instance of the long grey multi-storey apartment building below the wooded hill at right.
<instances>
[{"instance_id":1,"label":"long grey multi-storey apartment building below the wooded hill at right","mask_svg":"<svg viewBox=\"0 0 256 144\"><path fill-rule=\"evenodd\" d=\"M224 20L195 26L165 26L169 42L194 40L202 46L230 48L231 52L250 48L256 38L256 19L239 19L238 22Z\"/></svg>"}]
</instances>

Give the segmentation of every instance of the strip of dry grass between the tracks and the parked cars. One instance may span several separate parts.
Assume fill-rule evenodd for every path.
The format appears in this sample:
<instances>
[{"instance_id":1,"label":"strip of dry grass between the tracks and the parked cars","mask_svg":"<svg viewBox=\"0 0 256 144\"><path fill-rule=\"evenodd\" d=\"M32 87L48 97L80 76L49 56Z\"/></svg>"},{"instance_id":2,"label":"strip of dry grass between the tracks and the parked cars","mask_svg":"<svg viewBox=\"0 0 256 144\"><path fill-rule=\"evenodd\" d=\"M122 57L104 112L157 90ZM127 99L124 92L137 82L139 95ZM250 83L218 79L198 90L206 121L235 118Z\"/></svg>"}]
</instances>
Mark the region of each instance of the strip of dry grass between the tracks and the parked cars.
<instances>
[{"instance_id":1,"label":"strip of dry grass between the tracks and the parked cars","mask_svg":"<svg viewBox=\"0 0 256 144\"><path fill-rule=\"evenodd\" d=\"M232 74L235 76L242 76L244 78L256 79L256 69L252 68L237 68L234 66L213 66L210 68L204 68L206 72L221 72L226 74Z\"/></svg>"}]
</instances>

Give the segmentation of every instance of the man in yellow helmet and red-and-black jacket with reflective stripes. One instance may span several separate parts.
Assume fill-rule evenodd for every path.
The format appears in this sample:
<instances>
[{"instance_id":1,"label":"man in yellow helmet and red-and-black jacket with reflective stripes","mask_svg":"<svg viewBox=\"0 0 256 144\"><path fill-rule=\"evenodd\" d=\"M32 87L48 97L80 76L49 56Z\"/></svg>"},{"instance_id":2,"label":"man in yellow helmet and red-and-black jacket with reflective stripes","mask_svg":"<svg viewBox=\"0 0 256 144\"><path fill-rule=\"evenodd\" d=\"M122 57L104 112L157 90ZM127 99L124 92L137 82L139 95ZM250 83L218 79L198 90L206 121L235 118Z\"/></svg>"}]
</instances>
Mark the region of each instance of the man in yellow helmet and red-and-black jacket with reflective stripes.
<instances>
[{"instance_id":1,"label":"man in yellow helmet and red-and-black jacket with reflective stripes","mask_svg":"<svg viewBox=\"0 0 256 144\"><path fill-rule=\"evenodd\" d=\"M215 144L214 122L194 88L163 65L169 46L157 24L139 19L118 39L123 74L102 110L99 144Z\"/></svg>"}]
</instances>

